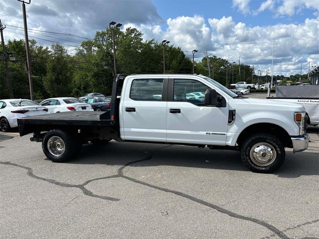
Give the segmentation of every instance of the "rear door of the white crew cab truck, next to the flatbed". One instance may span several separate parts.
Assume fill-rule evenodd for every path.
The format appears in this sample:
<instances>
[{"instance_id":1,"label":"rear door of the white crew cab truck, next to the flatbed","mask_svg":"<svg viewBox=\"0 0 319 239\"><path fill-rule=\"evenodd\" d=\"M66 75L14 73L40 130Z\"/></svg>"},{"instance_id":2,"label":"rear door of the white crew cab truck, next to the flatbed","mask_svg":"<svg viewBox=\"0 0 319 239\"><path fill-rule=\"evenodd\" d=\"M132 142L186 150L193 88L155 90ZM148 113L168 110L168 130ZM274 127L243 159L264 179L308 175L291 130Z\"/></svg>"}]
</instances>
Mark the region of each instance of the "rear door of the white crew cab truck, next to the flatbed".
<instances>
[{"instance_id":1,"label":"rear door of the white crew cab truck, next to the flatbed","mask_svg":"<svg viewBox=\"0 0 319 239\"><path fill-rule=\"evenodd\" d=\"M123 139L166 142L167 82L163 77L128 79L120 106Z\"/></svg>"}]
</instances>

